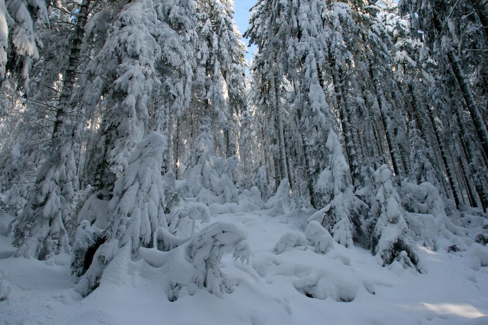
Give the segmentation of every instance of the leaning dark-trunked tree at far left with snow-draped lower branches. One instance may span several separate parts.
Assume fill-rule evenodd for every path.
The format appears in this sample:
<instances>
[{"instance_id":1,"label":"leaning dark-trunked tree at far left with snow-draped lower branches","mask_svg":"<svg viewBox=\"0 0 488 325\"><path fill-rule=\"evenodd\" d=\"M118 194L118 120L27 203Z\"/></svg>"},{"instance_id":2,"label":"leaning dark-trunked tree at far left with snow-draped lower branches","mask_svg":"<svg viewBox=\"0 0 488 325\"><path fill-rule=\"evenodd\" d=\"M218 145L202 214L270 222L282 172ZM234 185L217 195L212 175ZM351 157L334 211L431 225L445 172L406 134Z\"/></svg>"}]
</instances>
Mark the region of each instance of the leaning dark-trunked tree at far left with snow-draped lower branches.
<instances>
[{"instance_id":1,"label":"leaning dark-trunked tree at far left with snow-draped lower branches","mask_svg":"<svg viewBox=\"0 0 488 325\"><path fill-rule=\"evenodd\" d=\"M77 85L77 67L81 61L80 45L83 30L89 15L90 1L82 1L78 7L78 18L73 30L69 31L66 42L69 44L66 58L58 62L47 63L37 81L58 83L59 92L53 102L50 122L50 138L47 144L46 160L42 163L33 188L32 197L20 214L14 229L14 245L19 246L16 254L35 258L46 258L51 253L69 251L65 225L69 221L71 204L78 190L77 163L74 154L75 134L80 123L80 115L73 112L70 98ZM64 19L71 19L62 14ZM59 22L58 22L59 23ZM53 35L53 29L46 30L44 38ZM64 57L64 56L63 56ZM56 64L57 63L57 64ZM61 71L60 71L61 70ZM61 80L58 75L62 74ZM54 87L54 85L53 85ZM33 90L34 99L42 102L48 88L46 84L37 84ZM49 97L48 97L49 98ZM34 103L29 103L34 106Z\"/></svg>"}]
</instances>

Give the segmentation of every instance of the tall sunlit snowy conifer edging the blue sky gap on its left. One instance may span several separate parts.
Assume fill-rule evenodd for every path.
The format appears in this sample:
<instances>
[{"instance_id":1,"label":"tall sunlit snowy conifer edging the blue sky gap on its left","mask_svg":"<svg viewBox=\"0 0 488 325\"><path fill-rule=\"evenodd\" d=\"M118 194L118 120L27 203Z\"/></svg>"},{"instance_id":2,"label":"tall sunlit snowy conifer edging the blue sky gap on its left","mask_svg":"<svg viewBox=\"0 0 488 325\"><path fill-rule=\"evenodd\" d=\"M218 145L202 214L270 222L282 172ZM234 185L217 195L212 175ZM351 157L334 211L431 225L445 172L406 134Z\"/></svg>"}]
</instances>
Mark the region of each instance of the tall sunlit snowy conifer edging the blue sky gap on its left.
<instances>
[{"instance_id":1,"label":"tall sunlit snowy conifer edging the blue sky gap on its left","mask_svg":"<svg viewBox=\"0 0 488 325\"><path fill-rule=\"evenodd\" d=\"M204 104L212 120L216 154L229 157L236 154L236 117L245 103L245 48L232 19L233 1L204 0L196 7L196 104Z\"/></svg>"}]
</instances>

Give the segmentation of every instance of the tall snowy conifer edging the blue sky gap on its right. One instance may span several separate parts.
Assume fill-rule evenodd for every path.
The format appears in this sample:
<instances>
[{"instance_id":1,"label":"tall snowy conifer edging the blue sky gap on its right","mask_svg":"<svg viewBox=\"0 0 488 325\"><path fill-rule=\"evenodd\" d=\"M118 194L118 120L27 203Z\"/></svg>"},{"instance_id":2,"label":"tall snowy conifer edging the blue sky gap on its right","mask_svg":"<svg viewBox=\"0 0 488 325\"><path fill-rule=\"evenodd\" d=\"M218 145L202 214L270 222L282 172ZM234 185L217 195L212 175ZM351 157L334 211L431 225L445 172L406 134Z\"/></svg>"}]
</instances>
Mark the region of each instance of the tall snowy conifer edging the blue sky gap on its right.
<instances>
[{"instance_id":1,"label":"tall snowy conifer edging the blue sky gap on its right","mask_svg":"<svg viewBox=\"0 0 488 325\"><path fill-rule=\"evenodd\" d=\"M285 108L285 95L289 90L284 64L287 10L288 1L259 1L251 9L249 27L244 33L249 43L258 47L251 66L250 99L262 119L264 132L270 135L268 145L272 148L272 158L268 166L273 166L276 189L283 179L293 180L288 160Z\"/></svg>"}]
</instances>

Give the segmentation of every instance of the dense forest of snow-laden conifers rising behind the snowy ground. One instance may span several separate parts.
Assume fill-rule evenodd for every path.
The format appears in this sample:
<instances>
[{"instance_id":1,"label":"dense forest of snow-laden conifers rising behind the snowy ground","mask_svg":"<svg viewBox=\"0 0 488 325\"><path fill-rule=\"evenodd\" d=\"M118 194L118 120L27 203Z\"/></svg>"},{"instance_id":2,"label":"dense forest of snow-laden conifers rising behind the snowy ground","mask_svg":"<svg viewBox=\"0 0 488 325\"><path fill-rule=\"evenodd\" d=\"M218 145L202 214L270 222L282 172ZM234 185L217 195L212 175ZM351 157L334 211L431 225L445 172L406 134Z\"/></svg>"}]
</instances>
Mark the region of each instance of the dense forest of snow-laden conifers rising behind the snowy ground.
<instances>
[{"instance_id":1,"label":"dense forest of snow-laden conifers rising behind the snowy ground","mask_svg":"<svg viewBox=\"0 0 488 325\"><path fill-rule=\"evenodd\" d=\"M16 256L72 254L83 295L141 247L190 243L197 259L230 233L212 254L248 259L230 226L184 239L210 205L247 197L422 272L416 240L435 249L463 233L450 216L486 212L487 1L257 1L249 67L233 5L0 0ZM207 279L218 262L203 260Z\"/></svg>"}]
</instances>

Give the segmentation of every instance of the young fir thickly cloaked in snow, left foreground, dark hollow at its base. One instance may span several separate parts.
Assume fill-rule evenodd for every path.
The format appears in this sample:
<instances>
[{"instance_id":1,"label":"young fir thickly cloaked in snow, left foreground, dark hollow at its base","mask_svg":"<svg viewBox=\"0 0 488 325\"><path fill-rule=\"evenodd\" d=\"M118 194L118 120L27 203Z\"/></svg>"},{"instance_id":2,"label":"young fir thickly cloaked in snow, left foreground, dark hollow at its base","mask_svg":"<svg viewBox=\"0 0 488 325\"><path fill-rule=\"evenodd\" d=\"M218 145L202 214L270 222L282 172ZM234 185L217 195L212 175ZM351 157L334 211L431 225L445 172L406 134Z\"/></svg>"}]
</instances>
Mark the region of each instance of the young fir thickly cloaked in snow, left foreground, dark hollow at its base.
<instances>
[{"instance_id":1,"label":"young fir thickly cloaked in snow, left foreground, dark hollow at its base","mask_svg":"<svg viewBox=\"0 0 488 325\"><path fill-rule=\"evenodd\" d=\"M104 242L98 247L93 261L86 273L81 274L80 259L72 260L72 271L82 275L80 290L87 295L99 285L103 270L111 262L115 254L130 256L139 247L152 247L154 233L159 227L167 227L164 214L164 179L161 174L163 152L166 139L162 134L153 132L147 135L136 147L128 160L128 166L115 183L113 197L108 203L107 229L97 235L96 229L86 223L81 225L75 234L76 248L81 253L88 253L94 247L98 237L103 236ZM105 216L102 216L105 217ZM87 236L92 236L87 242ZM106 249L110 255L104 255ZM99 256L105 256L102 264ZM86 256L86 255L85 255ZM98 260L96 260L98 258Z\"/></svg>"}]
</instances>

